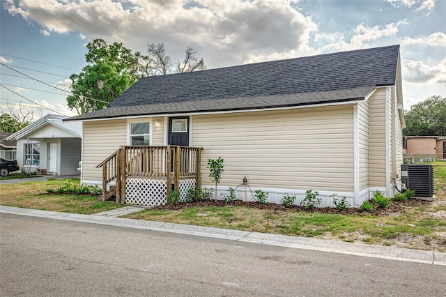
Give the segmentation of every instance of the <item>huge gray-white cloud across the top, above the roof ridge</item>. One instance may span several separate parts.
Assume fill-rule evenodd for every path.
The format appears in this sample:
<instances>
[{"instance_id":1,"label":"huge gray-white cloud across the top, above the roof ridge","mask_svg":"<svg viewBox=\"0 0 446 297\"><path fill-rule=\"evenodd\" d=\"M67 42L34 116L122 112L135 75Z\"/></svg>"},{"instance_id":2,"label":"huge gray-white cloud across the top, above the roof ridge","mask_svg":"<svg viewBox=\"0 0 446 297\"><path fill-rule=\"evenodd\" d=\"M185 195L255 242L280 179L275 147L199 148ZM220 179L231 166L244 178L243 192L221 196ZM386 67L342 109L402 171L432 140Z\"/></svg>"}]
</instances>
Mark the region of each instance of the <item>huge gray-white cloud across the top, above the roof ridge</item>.
<instances>
[{"instance_id":1,"label":"huge gray-white cloud across the top, above the roof ridge","mask_svg":"<svg viewBox=\"0 0 446 297\"><path fill-rule=\"evenodd\" d=\"M22 0L8 1L6 7L48 33L79 31L80 38L118 41L140 52L149 43L162 42L174 60L190 46L213 67L311 50L310 35L317 29L287 0Z\"/></svg>"}]
</instances>

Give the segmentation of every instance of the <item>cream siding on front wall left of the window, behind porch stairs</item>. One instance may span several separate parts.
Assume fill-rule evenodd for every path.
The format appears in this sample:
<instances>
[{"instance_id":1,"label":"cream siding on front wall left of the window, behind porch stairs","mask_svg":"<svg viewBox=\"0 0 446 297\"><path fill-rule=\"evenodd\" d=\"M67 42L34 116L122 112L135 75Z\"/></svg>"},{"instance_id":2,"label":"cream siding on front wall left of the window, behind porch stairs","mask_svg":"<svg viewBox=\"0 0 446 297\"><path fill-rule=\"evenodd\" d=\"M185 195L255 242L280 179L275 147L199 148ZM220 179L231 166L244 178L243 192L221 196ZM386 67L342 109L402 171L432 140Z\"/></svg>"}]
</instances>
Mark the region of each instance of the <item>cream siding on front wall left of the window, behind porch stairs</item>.
<instances>
[{"instance_id":1,"label":"cream siding on front wall left of the window, behind porch stairs","mask_svg":"<svg viewBox=\"0 0 446 297\"><path fill-rule=\"evenodd\" d=\"M100 182L102 169L96 166L127 144L127 121L86 121L83 134L82 180Z\"/></svg>"}]
</instances>

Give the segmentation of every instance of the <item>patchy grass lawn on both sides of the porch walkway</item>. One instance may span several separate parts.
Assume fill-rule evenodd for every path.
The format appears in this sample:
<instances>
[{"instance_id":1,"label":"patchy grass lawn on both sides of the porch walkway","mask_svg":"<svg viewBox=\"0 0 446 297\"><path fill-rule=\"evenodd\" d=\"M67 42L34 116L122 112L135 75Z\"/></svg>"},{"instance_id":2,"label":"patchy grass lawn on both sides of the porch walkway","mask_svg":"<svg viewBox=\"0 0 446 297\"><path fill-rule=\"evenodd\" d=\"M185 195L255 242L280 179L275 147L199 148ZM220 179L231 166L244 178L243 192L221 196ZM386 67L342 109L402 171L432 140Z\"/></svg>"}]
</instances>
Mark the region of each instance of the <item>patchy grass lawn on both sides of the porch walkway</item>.
<instances>
[{"instance_id":1,"label":"patchy grass lawn on both sides of the porch walkway","mask_svg":"<svg viewBox=\"0 0 446 297\"><path fill-rule=\"evenodd\" d=\"M446 162L434 162L433 166L436 201L417 201L386 215L206 206L149 209L124 217L446 252ZM97 197L46 194L47 189L55 190L62 183L50 180L0 185L0 204L85 214L122 206L99 202Z\"/></svg>"}]
</instances>

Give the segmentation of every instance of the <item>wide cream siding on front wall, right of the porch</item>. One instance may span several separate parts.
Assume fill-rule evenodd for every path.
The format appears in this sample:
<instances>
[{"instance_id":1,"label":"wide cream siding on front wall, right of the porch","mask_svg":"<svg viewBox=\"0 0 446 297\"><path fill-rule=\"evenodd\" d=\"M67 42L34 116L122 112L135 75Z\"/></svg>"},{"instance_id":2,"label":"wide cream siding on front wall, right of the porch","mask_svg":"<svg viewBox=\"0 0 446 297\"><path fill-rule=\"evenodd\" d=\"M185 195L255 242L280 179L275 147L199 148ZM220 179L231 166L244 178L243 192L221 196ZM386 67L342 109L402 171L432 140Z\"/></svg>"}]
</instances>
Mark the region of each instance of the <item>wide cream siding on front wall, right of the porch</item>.
<instances>
[{"instance_id":1,"label":"wide cream siding on front wall, right of the porch","mask_svg":"<svg viewBox=\"0 0 446 297\"><path fill-rule=\"evenodd\" d=\"M194 116L192 146L224 158L220 185L353 192L353 105Z\"/></svg>"}]
</instances>

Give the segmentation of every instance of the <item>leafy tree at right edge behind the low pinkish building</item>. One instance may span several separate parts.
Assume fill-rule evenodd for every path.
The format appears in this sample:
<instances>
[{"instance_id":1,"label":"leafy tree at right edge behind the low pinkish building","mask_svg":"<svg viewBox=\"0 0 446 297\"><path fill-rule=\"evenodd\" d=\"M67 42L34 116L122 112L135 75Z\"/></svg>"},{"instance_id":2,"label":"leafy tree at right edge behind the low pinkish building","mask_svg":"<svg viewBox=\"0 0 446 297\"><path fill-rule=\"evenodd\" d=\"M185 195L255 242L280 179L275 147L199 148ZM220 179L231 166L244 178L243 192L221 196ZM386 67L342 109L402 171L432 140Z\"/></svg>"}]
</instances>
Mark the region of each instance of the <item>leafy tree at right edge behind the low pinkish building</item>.
<instances>
[{"instance_id":1,"label":"leafy tree at right edge behind the low pinkish building","mask_svg":"<svg viewBox=\"0 0 446 297\"><path fill-rule=\"evenodd\" d=\"M445 136L446 98L431 96L404 113L407 136Z\"/></svg>"}]
</instances>

